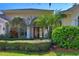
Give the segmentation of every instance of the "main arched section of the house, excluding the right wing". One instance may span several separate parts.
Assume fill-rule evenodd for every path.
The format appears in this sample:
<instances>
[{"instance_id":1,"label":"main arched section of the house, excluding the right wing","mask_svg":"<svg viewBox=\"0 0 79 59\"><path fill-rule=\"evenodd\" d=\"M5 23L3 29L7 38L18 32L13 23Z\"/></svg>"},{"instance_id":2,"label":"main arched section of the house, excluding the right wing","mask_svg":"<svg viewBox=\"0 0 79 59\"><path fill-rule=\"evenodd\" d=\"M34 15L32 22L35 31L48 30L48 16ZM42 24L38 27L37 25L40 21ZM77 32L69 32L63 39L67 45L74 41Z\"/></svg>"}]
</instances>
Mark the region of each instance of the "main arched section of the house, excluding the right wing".
<instances>
[{"instance_id":1,"label":"main arched section of the house, excluding the right wing","mask_svg":"<svg viewBox=\"0 0 79 59\"><path fill-rule=\"evenodd\" d=\"M47 38L47 29L48 28L40 28L32 24L33 20L40 15L43 14L50 14L52 10L43 10L43 9L12 9L12 10L4 10L1 14L0 21L1 24L5 24L6 22L9 23L10 20L14 19L15 17L21 17L27 26L22 27L19 31L22 33L19 34L18 38ZM4 28L6 29L4 32ZM0 34L10 34L12 32L10 26L2 28ZM2 33L3 32L3 33ZM16 33L17 30L16 30ZM18 34L17 34L18 35ZM16 38L16 37L15 37Z\"/></svg>"}]
</instances>

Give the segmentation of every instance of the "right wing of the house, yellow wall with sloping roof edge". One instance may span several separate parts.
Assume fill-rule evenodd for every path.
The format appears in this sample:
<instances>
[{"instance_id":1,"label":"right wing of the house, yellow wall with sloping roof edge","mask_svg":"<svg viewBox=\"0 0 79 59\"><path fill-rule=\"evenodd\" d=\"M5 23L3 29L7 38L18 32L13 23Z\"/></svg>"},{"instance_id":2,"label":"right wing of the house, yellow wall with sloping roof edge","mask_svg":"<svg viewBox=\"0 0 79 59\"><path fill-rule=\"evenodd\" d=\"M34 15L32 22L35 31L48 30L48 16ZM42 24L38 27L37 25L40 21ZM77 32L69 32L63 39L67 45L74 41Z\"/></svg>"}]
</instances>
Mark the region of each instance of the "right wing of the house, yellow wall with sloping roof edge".
<instances>
[{"instance_id":1,"label":"right wing of the house, yellow wall with sloping roof edge","mask_svg":"<svg viewBox=\"0 0 79 59\"><path fill-rule=\"evenodd\" d=\"M79 26L79 4L74 4L71 8L62 11L67 17L62 19L64 26Z\"/></svg>"}]
</instances>

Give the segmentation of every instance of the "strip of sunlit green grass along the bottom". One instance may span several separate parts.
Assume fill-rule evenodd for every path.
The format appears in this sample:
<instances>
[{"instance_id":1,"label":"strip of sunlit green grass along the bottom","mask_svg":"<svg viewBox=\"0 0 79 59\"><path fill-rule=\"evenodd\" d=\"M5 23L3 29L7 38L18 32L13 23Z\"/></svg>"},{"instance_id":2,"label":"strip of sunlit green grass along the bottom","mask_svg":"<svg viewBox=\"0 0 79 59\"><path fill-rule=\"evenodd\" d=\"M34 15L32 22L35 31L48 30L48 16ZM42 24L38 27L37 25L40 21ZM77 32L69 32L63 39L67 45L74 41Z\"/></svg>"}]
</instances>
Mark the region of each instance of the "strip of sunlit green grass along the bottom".
<instances>
[{"instance_id":1,"label":"strip of sunlit green grass along the bottom","mask_svg":"<svg viewBox=\"0 0 79 59\"><path fill-rule=\"evenodd\" d=\"M49 51L49 52L25 52L25 51L0 51L0 56L79 56L79 51Z\"/></svg>"}]
</instances>

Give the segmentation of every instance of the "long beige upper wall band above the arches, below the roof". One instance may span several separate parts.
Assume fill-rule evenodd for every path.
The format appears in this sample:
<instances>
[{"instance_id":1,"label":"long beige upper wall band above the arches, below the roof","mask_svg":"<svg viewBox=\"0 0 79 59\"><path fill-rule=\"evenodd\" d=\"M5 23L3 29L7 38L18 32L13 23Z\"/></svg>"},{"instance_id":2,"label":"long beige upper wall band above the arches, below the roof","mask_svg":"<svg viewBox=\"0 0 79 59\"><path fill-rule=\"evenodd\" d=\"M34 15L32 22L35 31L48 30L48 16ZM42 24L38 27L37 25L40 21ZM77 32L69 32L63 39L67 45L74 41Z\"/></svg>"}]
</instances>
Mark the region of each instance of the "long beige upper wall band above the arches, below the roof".
<instances>
[{"instance_id":1,"label":"long beige upper wall band above the arches, below the roof","mask_svg":"<svg viewBox=\"0 0 79 59\"><path fill-rule=\"evenodd\" d=\"M44 10L13 10L5 11L7 16L39 16L42 14L50 14L52 12Z\"/></svg>"}]
</instances>

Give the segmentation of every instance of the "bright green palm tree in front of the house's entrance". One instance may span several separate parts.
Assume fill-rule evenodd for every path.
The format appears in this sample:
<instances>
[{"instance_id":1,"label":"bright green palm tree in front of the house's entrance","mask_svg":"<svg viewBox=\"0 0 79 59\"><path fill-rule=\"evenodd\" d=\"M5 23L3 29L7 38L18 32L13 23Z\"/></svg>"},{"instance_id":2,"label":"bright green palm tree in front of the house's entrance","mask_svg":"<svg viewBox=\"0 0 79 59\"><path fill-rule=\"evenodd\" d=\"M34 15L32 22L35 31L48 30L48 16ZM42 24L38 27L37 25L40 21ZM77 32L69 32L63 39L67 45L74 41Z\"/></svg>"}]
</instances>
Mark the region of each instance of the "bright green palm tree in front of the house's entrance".
<instances>
[{"instance_id":1,"label":"bright green palm tree in front of the house's entrance","mask_svg":"<svg viewBox=\"0 0 79 59\"><path fill-rule=\"evenodd\" d=\"M65 14L61 14L61 12L55 12L50 15L41 15L34 21L34 24L41 27L49 28L49 38L51 38L52 29L57 26L61 26L61 18L66 17Z\"/></svg>"}]
</instances>

